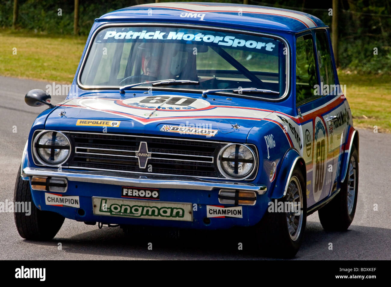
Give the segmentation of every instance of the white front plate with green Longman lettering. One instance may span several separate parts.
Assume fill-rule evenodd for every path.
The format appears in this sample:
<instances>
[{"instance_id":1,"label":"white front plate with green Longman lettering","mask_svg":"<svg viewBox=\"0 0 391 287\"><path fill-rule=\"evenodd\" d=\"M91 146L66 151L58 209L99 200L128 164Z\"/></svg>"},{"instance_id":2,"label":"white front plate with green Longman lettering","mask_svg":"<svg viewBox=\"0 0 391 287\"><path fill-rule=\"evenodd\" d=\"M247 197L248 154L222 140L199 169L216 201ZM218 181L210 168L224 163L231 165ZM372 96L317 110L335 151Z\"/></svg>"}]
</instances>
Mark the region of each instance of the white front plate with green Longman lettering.
<instances>
[{"instance_id":1,"label":"white front plate with green Longman lettering","mask_svg":"<svg viewBox=\"0 0 391 287\"><path fill-rule=\"evenodd\" d=\"M191 203L92 198L95 215L193 221Z\"/></svg>"}]
</instances>

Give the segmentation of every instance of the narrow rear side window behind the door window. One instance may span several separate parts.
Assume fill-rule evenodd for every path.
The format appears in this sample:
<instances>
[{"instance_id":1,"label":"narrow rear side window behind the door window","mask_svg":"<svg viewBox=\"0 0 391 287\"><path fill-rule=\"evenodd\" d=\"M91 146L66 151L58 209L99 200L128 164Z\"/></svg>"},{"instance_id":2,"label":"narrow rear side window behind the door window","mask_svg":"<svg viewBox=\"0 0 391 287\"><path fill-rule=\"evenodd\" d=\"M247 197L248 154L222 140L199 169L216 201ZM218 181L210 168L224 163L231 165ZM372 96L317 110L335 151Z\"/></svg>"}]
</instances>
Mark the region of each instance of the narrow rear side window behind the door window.
<instances>
[{"instance_id":1,"label":"narrow rear side window behind the door window","mask_svg":"<svg viewBox=\"0 0 391 287\"><path fill-rule=\"evenodd\" d=\"M335 78L326 32L316 32L316 48L320 82L323 83L321 86L327 85L323 88L323 92L324 94L329 94L334 91Z\"/></svg>"}]
</instances>

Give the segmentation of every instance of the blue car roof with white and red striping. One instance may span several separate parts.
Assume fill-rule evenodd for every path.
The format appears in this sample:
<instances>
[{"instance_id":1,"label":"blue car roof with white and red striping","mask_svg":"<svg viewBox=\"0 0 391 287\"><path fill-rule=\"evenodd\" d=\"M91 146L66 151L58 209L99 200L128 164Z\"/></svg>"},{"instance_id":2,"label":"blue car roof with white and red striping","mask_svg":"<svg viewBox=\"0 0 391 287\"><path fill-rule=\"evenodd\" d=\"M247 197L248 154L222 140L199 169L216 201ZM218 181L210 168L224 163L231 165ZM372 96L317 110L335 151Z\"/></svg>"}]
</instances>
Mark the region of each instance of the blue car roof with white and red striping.
<instances>
[{"instance_id":1,"label":"blue car roof with white and red striping","mask_svg":"<svg viewBox=\"0 0 391 287\"><path fill-rule=\"evenodd\" d=\"M192 13L186 17L185 13ZM194 13L205 14L200 19ZM180 16L182 14L182 16ZM326 27L319 18L310 14L265 6L209 2L165 2L135 5L104 14L96 21L165 21L248 26L265 30L300 32L310 28ZM200 21L201 20L201 21Z\"/></svg>"}]
</instances>

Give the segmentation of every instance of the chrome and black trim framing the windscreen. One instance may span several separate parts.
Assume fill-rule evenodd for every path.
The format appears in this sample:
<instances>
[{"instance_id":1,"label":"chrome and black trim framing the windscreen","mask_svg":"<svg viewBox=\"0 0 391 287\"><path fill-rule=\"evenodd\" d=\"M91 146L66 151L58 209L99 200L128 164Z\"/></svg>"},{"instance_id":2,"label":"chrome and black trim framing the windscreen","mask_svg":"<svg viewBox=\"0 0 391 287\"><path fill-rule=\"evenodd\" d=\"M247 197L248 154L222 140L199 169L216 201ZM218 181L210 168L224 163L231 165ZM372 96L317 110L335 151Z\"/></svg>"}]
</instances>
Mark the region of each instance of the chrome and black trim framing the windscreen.
<instances>
[{"instance_id":1,"label":"chrome and black trim framing the windscreen","mask_svg":"<svg viewBox=\"0 0 391 287\"><path fill-rule=\"evenodd\" d=\"M133 26L136 26L136 27L187 27L189 29L204 29L204 30L212 30L212 31L226 31L226 32L232 32L232 33L237 33L237 34L245 34L245 35L252 35L252 36L260 36L260 37L269 37L269 38L272 38L272 39L277 39L279 41L281 41L285 47L287 48L287 57L285 57L285 77L286 77L286 80L285 80L285 91L284 93L282 94L282 96L280 96L279 98L266 98L266 97L260 97L260 96L251 96L252 98L256 98L256 99L262 99L262 100L268 100L268 101L280 101L284 98L286 98L286 96L289 94L289 89L290 89L290 83L291 83L291 80L290 80L290 71L291 71L291 61L290 61L290 47L287 43L287 41L283 38L283 37L280 37L280 36L277 36L277 35L272 35L272 34L265 34L265 33L257 33L257 32L251 32L251 31L246 31L246 30L234 30L234 29L228 29L228 28L221 28L221 27L212 27L212 26L203 26L203 25L192 25L192 24L176 24L176 23L140 23L140 22L136 22L136 23L107 23L107 24L104 24L104 25L101 25L99 26L92 34L91 38L90 38L90 41L88 43L88 47L86 49L86 52L84 54L84 57L83 57L83 61L80 65L80 69L77 73L77 77L76 77L76 80L77 80L77 85L83 89L83 90L87 90L87 91L91 91L91 90L95 90L95 91L101 91L101 90L116 90L116 89L119 89L121 86L86 86L86 85L83 85L81 84L81 75L83 73L83 70L84 70L84 66L86 64L86 61L87 61L87 58L88 58L88 55L90 54L90 51L91 51L91 46L93 45L94 41L95 41L95 37L97 36L97 34L103 30L103 29L106 29L106 28L110 28L110 27L133 27ZM140 86L140 88L142 88L142 86ZM156 88L156 87L155 87ZM159 87L160 88L160 87ZM162 88L162 89L170 89L170 90L176 90L176 89L181 89L181 91L196 91L196 92L201 92L202 93L202 89L183 89L183 88L174 88L174 87L171 87L171 88ZM229 93L229 94L234 94L236 96L238 96L237 94L235 93Z\"/></svg>"}]
</instances>

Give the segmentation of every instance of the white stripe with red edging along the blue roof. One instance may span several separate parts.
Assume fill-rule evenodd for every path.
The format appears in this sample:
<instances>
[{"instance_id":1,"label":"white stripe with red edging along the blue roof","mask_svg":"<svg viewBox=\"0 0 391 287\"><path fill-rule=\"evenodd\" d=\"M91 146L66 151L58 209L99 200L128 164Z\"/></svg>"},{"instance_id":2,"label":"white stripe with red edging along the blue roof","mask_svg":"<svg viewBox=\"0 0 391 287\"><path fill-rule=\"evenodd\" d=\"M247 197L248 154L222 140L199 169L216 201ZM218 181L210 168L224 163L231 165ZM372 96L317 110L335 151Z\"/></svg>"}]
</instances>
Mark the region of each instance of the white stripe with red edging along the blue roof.
<instances>
[{"instance_id":1,"label":"white stripe with red edging along the blue roof","mask_svg":"<svg viewBox=\"0 0 391 287\"><path fill-rule=\"evenodd\" d=\"M182 3L153 3L153 4L142 4L137 6L171 8L171 9L195 11L195 12L239 12L241 11L244 13L269 14L269 15L283 16L283 17L298 20L308 28L316 27L316 23L312 21L311 18L305 15L291 12L291 11L278 10L278 9L252 8L252 7L244 7L244 6L182 4Z\"/></svg>"}]
</instances>

